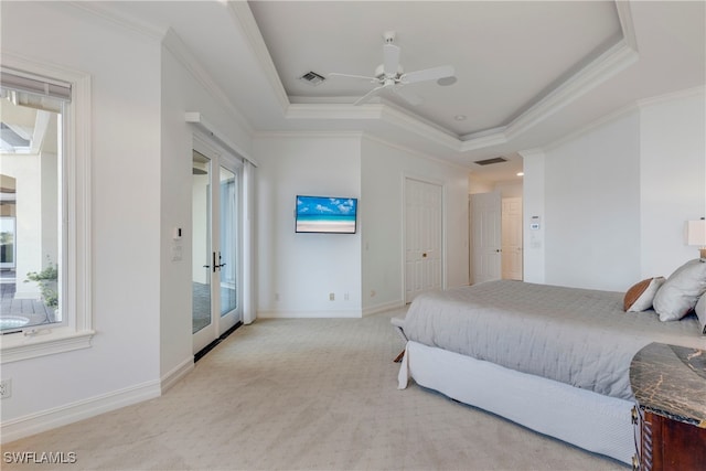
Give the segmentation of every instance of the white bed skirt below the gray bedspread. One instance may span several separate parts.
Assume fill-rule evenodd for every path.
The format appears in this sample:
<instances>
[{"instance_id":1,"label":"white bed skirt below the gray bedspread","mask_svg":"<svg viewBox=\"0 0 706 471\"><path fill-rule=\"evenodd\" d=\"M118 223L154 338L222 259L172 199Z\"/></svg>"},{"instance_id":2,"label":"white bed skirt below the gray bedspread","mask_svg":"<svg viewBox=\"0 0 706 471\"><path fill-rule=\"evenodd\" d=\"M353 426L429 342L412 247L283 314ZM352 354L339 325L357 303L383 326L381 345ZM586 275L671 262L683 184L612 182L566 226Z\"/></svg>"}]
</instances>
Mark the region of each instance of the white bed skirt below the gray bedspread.
<instances>
[{"instance_id":1,"label":"white bed skirt below the gray bedspread","mask_svg":"<svg viewBox=\"0 0 706 471\"><path fill-rule=\"evenodd\" d=\"M541 433L627 464L635 453L633 403L409 341L398 387L409 379Z\"/></svg>"}]
</instances>

